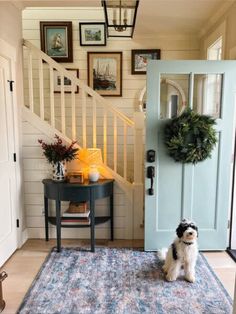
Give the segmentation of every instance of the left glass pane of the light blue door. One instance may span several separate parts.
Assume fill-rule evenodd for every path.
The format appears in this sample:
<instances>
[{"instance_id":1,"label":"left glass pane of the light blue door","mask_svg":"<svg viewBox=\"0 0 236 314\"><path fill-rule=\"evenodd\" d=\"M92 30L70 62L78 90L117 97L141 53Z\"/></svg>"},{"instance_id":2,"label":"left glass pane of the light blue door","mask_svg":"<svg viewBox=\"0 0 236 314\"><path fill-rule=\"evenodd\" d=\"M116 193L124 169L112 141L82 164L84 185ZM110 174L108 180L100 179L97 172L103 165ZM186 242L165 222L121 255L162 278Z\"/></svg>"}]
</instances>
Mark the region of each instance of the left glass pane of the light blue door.
<instances>
[{"instance_id":1,"label":"left glass pane of the light blue door","mask_svg":"<svg viewBox=\"0 0 236 314\"><path fill-rule=\"evenodd\" d=\"M186 108L189 74L161 74L160 119L179 116Z\"/></svg>"}]
</instances>

